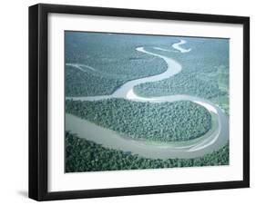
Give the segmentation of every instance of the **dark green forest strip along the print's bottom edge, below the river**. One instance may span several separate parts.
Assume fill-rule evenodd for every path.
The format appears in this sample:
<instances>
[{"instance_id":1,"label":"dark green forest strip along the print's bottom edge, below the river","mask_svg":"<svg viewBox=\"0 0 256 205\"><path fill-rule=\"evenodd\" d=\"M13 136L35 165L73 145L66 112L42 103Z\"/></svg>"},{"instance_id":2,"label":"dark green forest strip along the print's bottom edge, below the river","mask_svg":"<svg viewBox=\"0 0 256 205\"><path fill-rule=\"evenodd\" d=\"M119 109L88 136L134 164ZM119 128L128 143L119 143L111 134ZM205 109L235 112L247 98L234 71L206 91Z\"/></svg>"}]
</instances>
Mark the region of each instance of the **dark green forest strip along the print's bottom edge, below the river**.
<instances>
[{"instance_id":1,"label":"dark green forest strip along the print's bottom edge, below the river","mask_svg":"<svg viewBox=\"0 0 256 205\"><path fill-rule=\"evenodd\" d=\"M229 145L194 159L153 160L112 150L66 132L66 172L118 171L229 164Z\"/></svg>"}]
</instances>

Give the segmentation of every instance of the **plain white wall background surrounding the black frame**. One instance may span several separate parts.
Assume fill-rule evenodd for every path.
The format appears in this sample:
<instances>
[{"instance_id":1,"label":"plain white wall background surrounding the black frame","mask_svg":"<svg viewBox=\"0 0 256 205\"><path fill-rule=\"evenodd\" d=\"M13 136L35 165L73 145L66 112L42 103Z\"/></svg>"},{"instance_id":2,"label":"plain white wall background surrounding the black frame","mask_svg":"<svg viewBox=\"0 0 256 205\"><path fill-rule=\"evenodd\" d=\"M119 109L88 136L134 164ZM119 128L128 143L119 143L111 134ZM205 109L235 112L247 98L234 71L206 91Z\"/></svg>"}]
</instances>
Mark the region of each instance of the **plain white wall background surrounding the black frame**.
<instances>
[{"instance_id":1,"label":"plain white wall background surrounding the black frame","mask_svg":"<svg viewBox=\"0 0 256 205\"><path fill-rule=\"evenodd\" d=\"M210 190L186 193L154 194L89 200L62 200L50 204L252 204L256 193L256 13L252 0L55 0L41 3L67 5L93 5L175 12L208 13L216 15L251 16L251 189ZM28 5L38 1L2 1L0 32L0 203L35 204L27 199L27 143L28 143ZM254 82L253 82L254 80ZM200 173L199 173L200 174Z\"/></svg>"}]
</instances>

